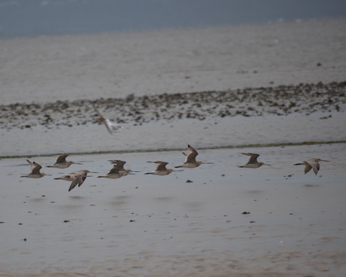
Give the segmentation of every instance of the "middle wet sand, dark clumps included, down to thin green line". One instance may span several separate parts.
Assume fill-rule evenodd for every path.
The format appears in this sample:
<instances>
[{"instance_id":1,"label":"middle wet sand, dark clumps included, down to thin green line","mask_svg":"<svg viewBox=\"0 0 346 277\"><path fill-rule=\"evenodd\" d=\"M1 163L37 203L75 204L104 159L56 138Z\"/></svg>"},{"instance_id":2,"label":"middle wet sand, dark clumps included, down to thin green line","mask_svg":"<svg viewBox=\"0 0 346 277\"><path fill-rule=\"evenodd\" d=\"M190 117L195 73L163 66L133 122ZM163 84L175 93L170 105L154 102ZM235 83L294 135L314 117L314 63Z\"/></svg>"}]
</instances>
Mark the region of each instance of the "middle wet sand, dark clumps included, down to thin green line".
<instances>
[{"instance_id":1,"label":"middle wet sand, dark clumps included, down to thin green line","mask_svg":"<svg viewBox=\"0 0 346 277\"><path fill-rule=\"evenodd\" d=\"M346 142L345 84L2 105L0 157Z\"/></svg>"}]
</instances>

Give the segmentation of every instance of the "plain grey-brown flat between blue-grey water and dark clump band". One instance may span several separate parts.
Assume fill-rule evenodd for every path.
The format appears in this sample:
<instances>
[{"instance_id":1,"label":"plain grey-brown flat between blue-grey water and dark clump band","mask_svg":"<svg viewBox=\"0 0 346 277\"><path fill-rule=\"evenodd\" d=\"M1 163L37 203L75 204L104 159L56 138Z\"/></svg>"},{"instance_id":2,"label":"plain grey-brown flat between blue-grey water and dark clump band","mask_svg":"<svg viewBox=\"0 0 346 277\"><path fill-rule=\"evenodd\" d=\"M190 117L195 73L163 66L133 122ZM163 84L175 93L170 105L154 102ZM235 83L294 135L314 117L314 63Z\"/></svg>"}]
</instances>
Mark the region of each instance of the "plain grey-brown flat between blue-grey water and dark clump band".
<instances>
[{"instance_id":1,"label":"plain grey-brown flat between blue-grey water and dark clump band","mask_svg":"<svg viewBox=\"0 0 346 277\"><path fill-rule=\"evenodd\" d=\"M345 25L340 18L2 39L1 102L343 82Z\"/></svg>"}]
</instances>

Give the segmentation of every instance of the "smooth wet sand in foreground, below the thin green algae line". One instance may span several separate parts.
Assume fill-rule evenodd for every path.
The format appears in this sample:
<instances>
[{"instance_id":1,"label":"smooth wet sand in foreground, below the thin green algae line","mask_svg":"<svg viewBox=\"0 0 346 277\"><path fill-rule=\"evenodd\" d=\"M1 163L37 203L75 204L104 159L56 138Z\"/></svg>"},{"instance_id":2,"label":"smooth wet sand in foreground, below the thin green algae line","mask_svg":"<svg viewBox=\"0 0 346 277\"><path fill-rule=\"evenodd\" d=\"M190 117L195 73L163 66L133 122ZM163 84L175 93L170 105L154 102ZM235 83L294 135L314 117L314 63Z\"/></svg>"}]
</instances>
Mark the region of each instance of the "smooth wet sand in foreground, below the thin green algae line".
<instances>
[{"instance_id":1,"label":"smooth wet sand in foreground, below the thin green algae line","mask_svg":"<svg viewBox=\"0 0 346 277\"><path fill-rule=\"evenodd\" d=\"M215 164L168 176L144 175L146 161L173 167L181 151L74 156L83 165L44 167L53 176L40 179L19 178L29 165L6 159L2 276L342 276L345 146L200 150ZM272 166L237 167L244 151ZM331 160L316 177L293 165L316 155ZM141 172L96 178L109 159ZM53 179L82 168L99 174L70 192Z\"/></svg>"}]
</instances>

